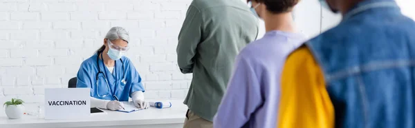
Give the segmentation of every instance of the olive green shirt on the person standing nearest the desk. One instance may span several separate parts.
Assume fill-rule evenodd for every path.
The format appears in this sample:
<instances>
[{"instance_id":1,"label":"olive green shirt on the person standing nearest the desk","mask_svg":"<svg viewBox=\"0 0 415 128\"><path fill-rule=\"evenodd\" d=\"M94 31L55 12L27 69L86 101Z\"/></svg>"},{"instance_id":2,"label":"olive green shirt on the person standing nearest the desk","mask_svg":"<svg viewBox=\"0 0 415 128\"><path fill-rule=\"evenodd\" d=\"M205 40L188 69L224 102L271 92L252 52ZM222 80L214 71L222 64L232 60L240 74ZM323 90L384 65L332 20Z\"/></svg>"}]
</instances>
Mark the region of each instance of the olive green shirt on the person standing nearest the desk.
<instances>
[{"instance_id":1,"label":"olive green shirt on the person standing nearest the desk","mask_svg":"<svg viewBox=\"0 0 415 128\"><path fill-rule=\"evenodd\" d=\"M178 66L193 73L184 103L212 121L234 60L258 34L258 20L241 0L194 0L178 36Z\"/></svg>"}]
</instances>

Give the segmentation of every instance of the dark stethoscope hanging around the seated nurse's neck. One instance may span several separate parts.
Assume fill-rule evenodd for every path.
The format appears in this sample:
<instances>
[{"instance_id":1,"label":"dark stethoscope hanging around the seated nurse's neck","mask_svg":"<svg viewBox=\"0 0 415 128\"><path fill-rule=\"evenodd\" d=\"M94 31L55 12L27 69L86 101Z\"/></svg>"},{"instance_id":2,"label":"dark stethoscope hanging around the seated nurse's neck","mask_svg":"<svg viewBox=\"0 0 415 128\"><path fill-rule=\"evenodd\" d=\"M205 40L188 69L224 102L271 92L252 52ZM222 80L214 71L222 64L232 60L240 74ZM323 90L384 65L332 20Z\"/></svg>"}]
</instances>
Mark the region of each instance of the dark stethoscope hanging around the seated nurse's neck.
<instances>
[{"instance_id":1,"label":"dark stethoscope hanging around the seated nurse's neck","mask_svg":"<svg viewBox=\"0 0 415 128\"><path fill-rule=\"evenodd\" d=\"M108 95L101 96L100 95L100 91L98 89L98 87L100 87L100 85L98 85L98 79L99 79L98 76L100 74L102 74L104 76L105 83L107 83L108 91L111 92L112 96L114 96L114 93L115 92L113 92L112 89L109 87L107 75L105 75L107 73L107 71L104 70L105 74L104 74L104 72L101 71L100 63L99 63L100 62L100 54L101 54L101 58L102 58L102 52L98 52L98 56L97 56L98 73L96 74L96 86L97 86L97 90L96 91L97 91L97 94L98 94L99 97L106 97L106 96L108 96ZM127 81L125 81L124 62L122 61L122 58L120 58L120 61L122 63L122 80L121 80L121 83L124 83L124 85L125 85L127 83ZM102 65L104 65L104 61L102 61ZM117 76L117 62L115 63L114 67L115 67L114 72L116 72L116 81L117 81L117 79L118 79L118 76ZM114 88L114 91L115 91L115 89L116 88Z\"/></svg>"}]
</instances>

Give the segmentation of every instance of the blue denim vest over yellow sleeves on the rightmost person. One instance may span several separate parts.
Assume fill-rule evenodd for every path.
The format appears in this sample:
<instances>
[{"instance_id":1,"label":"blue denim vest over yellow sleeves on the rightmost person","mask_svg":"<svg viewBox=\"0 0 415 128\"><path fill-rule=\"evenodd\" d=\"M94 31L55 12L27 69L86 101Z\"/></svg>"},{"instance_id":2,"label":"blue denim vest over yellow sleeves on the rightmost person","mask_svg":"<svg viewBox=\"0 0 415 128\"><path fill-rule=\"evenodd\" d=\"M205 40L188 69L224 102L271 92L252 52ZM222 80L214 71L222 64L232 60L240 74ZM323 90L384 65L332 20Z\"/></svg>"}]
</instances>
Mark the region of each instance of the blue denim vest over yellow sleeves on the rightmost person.
<instances>
[{"instance_id":1,"label":"blue denim vest over yellow sleeves on the rightmost person","mask_svg":"<svg viewBox=\"0 0 415 128\"><path fill-rule=\"evenodd\" d=\"M394 1L360 2L306 45L324 72L335 127L415 127L415 22Z\"/></svg>"}]
</instances>

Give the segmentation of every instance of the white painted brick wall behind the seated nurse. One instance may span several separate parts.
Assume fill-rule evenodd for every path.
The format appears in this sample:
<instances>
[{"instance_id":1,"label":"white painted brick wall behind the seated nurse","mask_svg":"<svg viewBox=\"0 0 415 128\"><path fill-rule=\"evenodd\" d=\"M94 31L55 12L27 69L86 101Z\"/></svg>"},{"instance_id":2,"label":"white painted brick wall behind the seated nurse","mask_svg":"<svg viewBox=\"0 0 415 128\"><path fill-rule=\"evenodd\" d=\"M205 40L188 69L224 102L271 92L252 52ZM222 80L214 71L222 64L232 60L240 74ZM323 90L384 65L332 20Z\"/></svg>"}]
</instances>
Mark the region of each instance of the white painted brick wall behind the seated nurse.
<instances>
[{"instance_id":1,"label":"white painted brick wall behind the seated nurse","mask_svg":"<svg viewBox=\"0 0 415 128\"><path fill-rule=\"evenodd\" d=\"M67 87L113 26L130 32L127 56L145 97L184 98L190 78L179 72L169 39L177 40L191 1L0 1L0 103L21 98L28 110L43 106L44 89Z\"/></svg>"}]
</instances>

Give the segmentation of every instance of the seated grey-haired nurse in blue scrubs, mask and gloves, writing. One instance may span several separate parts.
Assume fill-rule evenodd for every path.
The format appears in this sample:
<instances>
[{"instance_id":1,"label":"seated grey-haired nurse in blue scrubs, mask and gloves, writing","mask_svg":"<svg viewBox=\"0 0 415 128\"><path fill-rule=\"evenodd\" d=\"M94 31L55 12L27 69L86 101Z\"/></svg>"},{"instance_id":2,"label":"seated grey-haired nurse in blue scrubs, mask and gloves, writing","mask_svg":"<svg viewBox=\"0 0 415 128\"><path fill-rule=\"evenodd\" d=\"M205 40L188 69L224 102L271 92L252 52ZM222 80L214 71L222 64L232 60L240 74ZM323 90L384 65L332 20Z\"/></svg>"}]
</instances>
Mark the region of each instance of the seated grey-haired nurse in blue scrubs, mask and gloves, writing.
<instances>
[{"instance_id":1,"label":"seated grey-haired nurse in blue scrubs, mask and gloves, writing","mask_svg":"<svg viewBox=\"0 0 415 128\"><path fill-rule=\"evenodd\" d=\"M129 50L129 33L113 27L105 36L102 47L86 59L77 73L77 87L91 88L91 107L124 109L121 101L131 97L134 105L147 109L145 89L133 63L124 56Z\"/></svg>"}]
</instances>

